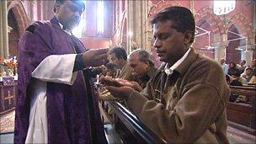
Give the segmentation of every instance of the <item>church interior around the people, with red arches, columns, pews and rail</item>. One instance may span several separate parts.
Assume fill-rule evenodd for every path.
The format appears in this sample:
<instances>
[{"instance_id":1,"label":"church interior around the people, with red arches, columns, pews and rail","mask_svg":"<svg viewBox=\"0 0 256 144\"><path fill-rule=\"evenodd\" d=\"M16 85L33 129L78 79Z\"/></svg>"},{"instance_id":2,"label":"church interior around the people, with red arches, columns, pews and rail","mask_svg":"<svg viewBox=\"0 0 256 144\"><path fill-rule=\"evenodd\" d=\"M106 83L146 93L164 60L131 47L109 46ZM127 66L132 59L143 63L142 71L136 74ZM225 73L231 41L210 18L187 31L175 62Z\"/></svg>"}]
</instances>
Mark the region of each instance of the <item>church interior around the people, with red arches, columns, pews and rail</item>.
<instances>
[{"instance_id":1,"label":"church interior around the people, with red arches, columns, pews and rail","mask_svg":"<svg viewBox=\"0 0 256 144\"><path fill-rule=\"evenodd\" d=\"M226 65L229 69L233 64L239 71L243 69L238 77L224 72L230 81L241 83L229 85L232 96L226 109L228 141L256 143L255 0L84 0L84 4L80 23L72 35L87 49L111 50L119 46L127 56L142 49L152 56L157 68L162 61L153 46L151 19L164 8L189 8L195 17L193 49L222 68ZM35 21L51 20L54 6L54 0L0 1L0 143L13 143L21 37ZM246 81L248 69L254 77L253 82L248 80L250 83ZM119 101L100 99L99 110L108 143L166 142Z\"/></svg>"}]
</instances>

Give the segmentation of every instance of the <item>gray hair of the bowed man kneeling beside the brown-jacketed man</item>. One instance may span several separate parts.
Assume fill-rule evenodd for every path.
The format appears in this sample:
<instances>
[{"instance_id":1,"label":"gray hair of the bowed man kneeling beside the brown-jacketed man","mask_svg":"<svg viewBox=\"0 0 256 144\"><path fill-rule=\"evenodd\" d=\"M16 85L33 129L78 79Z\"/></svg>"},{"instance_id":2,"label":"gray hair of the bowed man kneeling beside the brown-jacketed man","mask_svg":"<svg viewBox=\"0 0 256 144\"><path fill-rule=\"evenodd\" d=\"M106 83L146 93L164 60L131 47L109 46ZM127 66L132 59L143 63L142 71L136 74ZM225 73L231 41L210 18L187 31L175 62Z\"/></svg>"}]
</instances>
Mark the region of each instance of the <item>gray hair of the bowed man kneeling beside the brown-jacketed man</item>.
<instances>
[{"instance_id":1,"label":"gray hair of the bowed man kneeling beside the brown-jacketed man","mask_svg":"<svg viewBox=\"0 0 256 144\"><path fill-rule=\"evenodd\" d=\"M152 61L152 56L145 50L142 49L137 49L135 51L131 51L131 54L129 55L129 58L133 55L137 54L139 56L139 60L142 62L147 62L149 63L150 67L154 67L155 64Z\"/></svg>"}]
</instances>

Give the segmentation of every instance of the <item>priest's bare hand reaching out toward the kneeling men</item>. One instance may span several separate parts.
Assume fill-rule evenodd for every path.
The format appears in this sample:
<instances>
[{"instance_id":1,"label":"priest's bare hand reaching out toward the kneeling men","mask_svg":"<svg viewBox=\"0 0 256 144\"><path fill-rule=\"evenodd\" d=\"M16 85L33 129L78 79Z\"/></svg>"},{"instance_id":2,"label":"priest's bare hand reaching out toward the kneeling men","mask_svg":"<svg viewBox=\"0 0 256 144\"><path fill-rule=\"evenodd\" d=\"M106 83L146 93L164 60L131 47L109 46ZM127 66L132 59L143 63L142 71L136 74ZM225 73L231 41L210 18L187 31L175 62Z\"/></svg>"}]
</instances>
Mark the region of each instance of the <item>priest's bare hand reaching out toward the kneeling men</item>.
<instances>
[{"instance_id":1,"label":"priest's bare hand reaching out toward the kneeling men","mask_svg":"<svg viewBox=\"0 0 256 144\"><path fill-rule=\"evenodd\" d=\"M91 49L83 53L85 67L99 67L108 62L109 48Z\"/></svg>"}]
</instances>

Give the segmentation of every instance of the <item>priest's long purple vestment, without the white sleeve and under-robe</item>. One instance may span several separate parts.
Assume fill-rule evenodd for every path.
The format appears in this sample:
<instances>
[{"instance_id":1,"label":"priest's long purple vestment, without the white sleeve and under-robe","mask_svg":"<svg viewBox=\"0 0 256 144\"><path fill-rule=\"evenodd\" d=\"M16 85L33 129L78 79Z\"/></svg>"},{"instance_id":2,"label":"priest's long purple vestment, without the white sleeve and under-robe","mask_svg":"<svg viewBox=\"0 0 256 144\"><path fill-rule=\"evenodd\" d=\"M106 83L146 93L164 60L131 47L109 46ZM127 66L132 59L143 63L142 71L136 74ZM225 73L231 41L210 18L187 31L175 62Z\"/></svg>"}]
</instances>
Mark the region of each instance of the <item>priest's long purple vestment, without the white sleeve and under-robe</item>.
<instances>
[{"instance_id":1,"label":"priest's long purple vestment, without the white sleeve and under-robe","mask_svg":"<svg viewBox=\"0 0 256 144\"><path fill-rule=\"evenodd\" d=\"M75 50L71 35L61 29L56 18L48 22L35 22L19 41L19 96L16 100L14 143L24 143L29 128L31 72L47 56L75 54L86 51L78 40ZM73 68L73 67L71 67ZM47 69L47 67L45 67ZM47 82L46 108L48 143L106 143L103 123L99 115L98 97L93 93L95 123L90 125L88 93L83 72L77 73L72 85ZM93 86L91 86L94 92ZM97 140L92 140L91 126L96 126Z\"/></svg>"}]
</instances>

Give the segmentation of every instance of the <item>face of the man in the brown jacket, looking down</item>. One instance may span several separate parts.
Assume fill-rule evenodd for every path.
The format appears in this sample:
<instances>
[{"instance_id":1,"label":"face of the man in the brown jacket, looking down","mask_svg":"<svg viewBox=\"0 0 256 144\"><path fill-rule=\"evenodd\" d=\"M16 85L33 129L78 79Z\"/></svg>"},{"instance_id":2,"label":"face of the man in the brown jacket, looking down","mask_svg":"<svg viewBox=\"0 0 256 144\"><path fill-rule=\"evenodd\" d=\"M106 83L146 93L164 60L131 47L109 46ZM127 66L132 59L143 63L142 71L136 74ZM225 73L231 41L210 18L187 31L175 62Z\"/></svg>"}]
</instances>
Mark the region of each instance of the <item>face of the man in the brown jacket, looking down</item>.
<instances>
[{"instance_id":1,"label":"face of the man in the brown jacket, looking down","mask_svg":"<svg viewBox=\"0 0 256 144\"><path fill-rule=\"evenodd\" d=\"M153 25L154 47L160 61L173 65L188 50L189 40L183 33L172 28L172 21L157 22Z\"/></svg>"}]
</instances>

